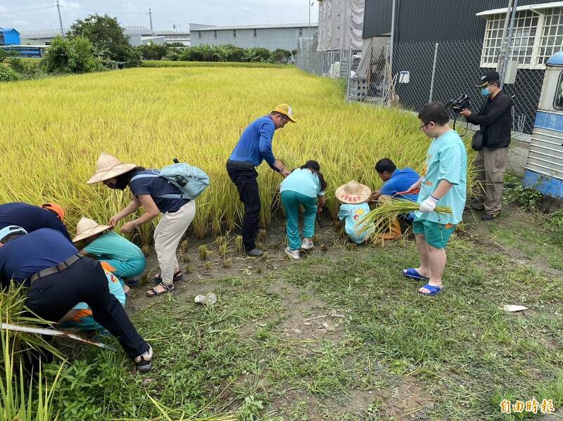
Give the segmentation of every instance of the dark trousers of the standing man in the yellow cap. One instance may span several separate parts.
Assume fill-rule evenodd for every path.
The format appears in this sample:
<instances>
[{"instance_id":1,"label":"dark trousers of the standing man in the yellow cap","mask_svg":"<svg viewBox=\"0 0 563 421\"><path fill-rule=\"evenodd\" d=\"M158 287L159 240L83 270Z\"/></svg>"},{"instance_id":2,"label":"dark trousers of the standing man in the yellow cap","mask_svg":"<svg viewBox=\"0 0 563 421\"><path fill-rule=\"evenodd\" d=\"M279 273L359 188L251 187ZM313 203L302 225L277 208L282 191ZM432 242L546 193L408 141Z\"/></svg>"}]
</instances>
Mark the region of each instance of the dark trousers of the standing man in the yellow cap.
<instances>
[{"instance_id":1,"label":"dark trousers of the standing man in the yellow cap","mask_svg":"<svg viewBox=\"0 0 563 421\"><path fill-rule=\"evenodd\" d=\"M239 190L239 197L244 204L242 219L242 241L244 250L249 252L255 245L258 233L258 218L260 217L260 193L258 193L258 172L253 164L248 162L227 162L229 178Z\"/></svg>"}]
</instances>

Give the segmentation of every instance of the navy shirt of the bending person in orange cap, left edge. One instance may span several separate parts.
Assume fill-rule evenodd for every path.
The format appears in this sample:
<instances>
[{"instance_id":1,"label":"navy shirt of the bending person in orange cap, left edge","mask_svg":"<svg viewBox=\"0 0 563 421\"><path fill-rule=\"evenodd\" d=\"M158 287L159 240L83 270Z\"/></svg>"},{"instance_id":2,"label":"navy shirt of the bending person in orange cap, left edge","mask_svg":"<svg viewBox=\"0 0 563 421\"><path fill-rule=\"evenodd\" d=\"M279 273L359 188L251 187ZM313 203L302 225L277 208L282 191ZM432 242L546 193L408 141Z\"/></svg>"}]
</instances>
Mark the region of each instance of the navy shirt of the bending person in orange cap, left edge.
<instances>
[{"instance_id":1,"label":"navy shirt of the bending person in orange cap, left edge","mask_svg":"<svg viewBox=\"0 0 563 421\"><path fill-rule=\"evenodd\" d=\"M5 203L0 205L0 229L9 225L17 225L28 233L39 228L52 228L59 231L69 241L70 235L63 224L49 209L29 205L23 202Z\"/></svg>"}]
</instances>

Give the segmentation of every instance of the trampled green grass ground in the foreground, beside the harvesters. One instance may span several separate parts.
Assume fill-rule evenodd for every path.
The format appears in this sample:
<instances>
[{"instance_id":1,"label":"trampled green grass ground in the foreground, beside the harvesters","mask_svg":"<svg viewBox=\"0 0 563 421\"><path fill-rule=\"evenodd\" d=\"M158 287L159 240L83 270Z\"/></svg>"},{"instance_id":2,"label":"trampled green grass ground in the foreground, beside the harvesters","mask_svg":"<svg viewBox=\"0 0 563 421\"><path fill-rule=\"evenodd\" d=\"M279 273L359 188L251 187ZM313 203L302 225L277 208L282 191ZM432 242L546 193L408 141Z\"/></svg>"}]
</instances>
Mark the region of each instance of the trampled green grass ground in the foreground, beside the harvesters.
<instances>
[{"instance_id":1,"label":"trampled green grass ground in the foreground, beside the harvesters","mask_svg":"<svg viewBox=\"0 0 563 421\"><path fill-rule=\"evenodd\" d=\"M563 405L560 276L467 233L448 248L440 296L419 296L400 276L416 263L412 242L342 248L284 270L249 263L217 281L210 309L191 295L133 300L153 371L132 376L121 353L85 349L61 373L55 409L88 420L500 420L502 399ZM331 311L345 317L303 323Z\"/></svg>"}]
</instances>

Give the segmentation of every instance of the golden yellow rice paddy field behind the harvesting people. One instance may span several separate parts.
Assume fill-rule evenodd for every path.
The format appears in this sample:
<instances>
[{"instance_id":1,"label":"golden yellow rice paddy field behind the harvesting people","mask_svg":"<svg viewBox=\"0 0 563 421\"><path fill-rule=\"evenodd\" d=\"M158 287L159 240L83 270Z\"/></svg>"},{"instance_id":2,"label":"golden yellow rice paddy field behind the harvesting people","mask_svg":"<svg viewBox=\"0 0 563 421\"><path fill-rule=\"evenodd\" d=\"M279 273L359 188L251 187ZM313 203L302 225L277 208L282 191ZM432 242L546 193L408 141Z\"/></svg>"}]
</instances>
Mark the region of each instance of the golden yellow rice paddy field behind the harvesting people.
<instances>
[{"instance_id":1,"label":"golden yellow rice paddy field behind the harvesting people","mask_svg":"<svg viewBox=\"0 0 563 421\"><path fill-rule=\"evenodd\" d=\"M291 67L137 68L0 89L0 201L58 202L70 231L80 216L108 221L129 200L128 190L85 184L101 152L147 168L174 157L201 167L212 184L198 199L194 233L233 231L242 207L225 162L246 125L278 103L293 107L298 124L276 132L274 153L290 168L320 162L333 217L339 185L355 179L378 188L373 167L381 157L420 171L429 145L415 116L346 103L341 84ZM267 164L259 172L268 226L281 177ZM144 240L150 231L141 232Z\"/></svg>"}]
</instances>

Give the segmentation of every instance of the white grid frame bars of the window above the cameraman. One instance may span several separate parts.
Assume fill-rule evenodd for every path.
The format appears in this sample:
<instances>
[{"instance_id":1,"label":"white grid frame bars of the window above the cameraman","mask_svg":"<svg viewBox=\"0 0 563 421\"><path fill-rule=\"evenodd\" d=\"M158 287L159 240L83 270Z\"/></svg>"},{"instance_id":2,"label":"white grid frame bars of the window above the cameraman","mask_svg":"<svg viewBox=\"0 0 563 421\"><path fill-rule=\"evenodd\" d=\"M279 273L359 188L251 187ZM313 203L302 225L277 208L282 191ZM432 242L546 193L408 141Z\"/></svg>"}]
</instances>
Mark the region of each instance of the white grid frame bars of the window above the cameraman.
<instances>
[{"instance_id":1,"label":"white grid frame bars of the window above the cameraman","mask_svg":"<svg viewBox=\"0 0 563 421\"><path fill-rule=\"evenodd\" d=\"M559 11L559 13L556 13ZM530 26L519 25L519 22L526 20L526 18L537 17L537 25L535 26L536 33L533 35L533 44L524 44L523 48L531 48L531 56L524 53L524 56L518 55L517 57L530 57L530 63L519 63L519 69L533 69L533 70L545 70L545 63L552 53L556 53L559 50L563 50L563 7L545 8L545 9L532 9L517 12L517 25L514 25L514 36L519 30L525 32L526 29L534 28ZM557 25L547 25L547 18L552 16L559 16L557 19ZM498 27L495 27L495 22L498 22ZM500 52L500 39L502 38L502 27L504 27L505 13L497 13L495 15L490 15L487 18L485 34L483 35L483 49L481 50L481 67L495 68L498 63L498 54L493 56L491 54L491 41L495 41L497 45L492 48L498 48ZM552 24L553 18L550 20ZM549 31L551 28L555 27L555 34L545 34L545 31ZM496 36L492 36L496 35ZM550 37L554 39L551 40ZM532 37L522 37L520 39L532 39ZM559 43L556 44L557 39L560 39ZM513 38L514 42L514 38ZM519 46L512 45L509 52L509 58L514 53L519 53L521 51ZM546 55L547 51L551 51L550 54ZM496 53L496 51L493 50Z\"/></svg>"}]
</instances>

